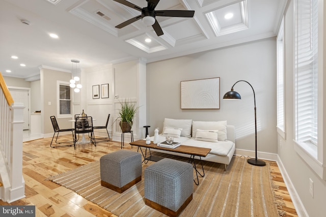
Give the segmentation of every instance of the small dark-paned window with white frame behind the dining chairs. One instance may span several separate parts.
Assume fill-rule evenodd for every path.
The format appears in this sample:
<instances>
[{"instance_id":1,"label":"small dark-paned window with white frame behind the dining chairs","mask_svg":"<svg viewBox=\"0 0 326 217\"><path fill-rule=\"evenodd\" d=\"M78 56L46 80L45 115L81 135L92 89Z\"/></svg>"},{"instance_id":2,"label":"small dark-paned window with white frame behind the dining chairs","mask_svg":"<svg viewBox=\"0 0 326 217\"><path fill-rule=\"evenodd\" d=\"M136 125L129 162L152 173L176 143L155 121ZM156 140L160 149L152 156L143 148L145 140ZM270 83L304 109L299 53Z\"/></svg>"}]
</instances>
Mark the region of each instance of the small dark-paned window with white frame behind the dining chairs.
<instances>
[{"instance_id":1,"label":"small dark-paned window with white frame behind the dining chairs","mask_svg":"<svg viewBox=\"0 0 326 217\"><path fill-rule=\"evenodd\" d=\"M71 117L71 93L68 82L58 81L58 117Z\"/></svg>"}]
</instances>

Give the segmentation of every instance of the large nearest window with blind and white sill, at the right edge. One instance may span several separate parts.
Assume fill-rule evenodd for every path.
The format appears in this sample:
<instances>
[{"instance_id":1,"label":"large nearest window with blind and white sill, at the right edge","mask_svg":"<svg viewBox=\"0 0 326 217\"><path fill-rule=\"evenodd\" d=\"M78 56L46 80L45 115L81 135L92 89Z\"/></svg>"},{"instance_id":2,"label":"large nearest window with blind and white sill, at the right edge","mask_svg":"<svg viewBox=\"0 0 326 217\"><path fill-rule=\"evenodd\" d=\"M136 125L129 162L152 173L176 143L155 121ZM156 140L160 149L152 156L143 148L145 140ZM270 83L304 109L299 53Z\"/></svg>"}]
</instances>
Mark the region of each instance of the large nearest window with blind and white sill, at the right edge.
<instances>
[{"instance_id":1,"label":"large nearest window with blind and white sill, at the right edge","mask_svg":"<svg viewBox=\"0 0 326 217\"><path fill-rule=\"evenodd\" d=\"M318 19L323 21L324 13L323 4L318 8L318 2L322 3L318 0L294 1L294 150L320 178L326 180L326 167L323 166L326 149L322 133L317 138L317 125L320 132L323 126L322 118L317 121L317 112L322 114L324 107L322 99L319 103L317 99L317 89L322 90L317 86L318 73L323 74L322 66L317 69L317 55L324 52L322 44L319 43L319 50L317 48L317 33L322 36L324 32L324 26L318 26Z\"/></svg>"}]
</instances>

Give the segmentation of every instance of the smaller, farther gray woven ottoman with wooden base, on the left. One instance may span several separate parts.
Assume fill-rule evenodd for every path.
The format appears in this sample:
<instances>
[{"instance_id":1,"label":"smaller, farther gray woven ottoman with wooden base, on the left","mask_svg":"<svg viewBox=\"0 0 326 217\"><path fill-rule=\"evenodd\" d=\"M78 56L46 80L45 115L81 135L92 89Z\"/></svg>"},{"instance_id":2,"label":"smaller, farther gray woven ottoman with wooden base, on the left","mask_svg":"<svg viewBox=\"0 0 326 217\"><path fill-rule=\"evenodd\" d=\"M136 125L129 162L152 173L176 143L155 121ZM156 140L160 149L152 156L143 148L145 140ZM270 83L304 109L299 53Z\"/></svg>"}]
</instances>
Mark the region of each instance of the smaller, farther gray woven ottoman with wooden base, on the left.
<instances>
[{"instance_id":1,"label":"smaller, farther gray woven ottoman with wooden base, on the left","mask_svg":"<svg viewBox=\"0 0 326 217\"><path fill-rule=\"evenodd\" d=\"M122 193L142 180L142 154L118 150L100 158L101 185Z\"/></svg>"}]
</instances>

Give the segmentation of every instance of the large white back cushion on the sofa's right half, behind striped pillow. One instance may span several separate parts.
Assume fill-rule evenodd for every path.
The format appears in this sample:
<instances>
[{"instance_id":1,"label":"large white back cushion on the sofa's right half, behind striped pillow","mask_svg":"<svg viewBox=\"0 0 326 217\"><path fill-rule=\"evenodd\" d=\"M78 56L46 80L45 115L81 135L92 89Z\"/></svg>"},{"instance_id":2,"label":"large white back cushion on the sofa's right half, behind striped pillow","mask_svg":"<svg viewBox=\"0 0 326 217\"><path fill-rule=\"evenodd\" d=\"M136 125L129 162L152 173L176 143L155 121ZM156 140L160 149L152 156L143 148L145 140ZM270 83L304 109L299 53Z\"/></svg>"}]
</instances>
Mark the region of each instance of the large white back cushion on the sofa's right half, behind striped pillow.
<instances>
[{"instance_id":1,"label":"large white back cushion on the sofa's right half, behind striped pillow","mask_svg":"<svg viewBox=\"0 0 326 217\"><path fill-rule=\"evenodd\" d=\"M227 131L226 131L226 120L221 121L193 121L193 138L196 138L196 132L200 130L217 130L218 140L226 141L227 140Z\"/></svg>"}]
</instances>

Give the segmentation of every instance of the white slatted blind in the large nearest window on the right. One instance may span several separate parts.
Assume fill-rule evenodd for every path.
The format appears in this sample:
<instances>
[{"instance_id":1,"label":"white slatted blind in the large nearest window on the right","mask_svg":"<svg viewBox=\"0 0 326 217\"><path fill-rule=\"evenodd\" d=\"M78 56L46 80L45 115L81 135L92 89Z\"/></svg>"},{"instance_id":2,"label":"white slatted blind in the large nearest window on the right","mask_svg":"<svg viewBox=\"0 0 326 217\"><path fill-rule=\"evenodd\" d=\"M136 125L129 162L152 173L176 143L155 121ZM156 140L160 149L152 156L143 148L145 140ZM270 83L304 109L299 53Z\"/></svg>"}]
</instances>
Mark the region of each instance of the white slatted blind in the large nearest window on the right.
<instances>
[{"instance_id":1,"label":"white slatted blind in the large nearest window on the right","mask_svg":"<svg viewBox=\"0 0 326 217\"><path fill-rule=\"evenodd\" d=\"M295 139L317 145L318 1L297 0L295 26Z\"/></svg>"}]
</instances>

